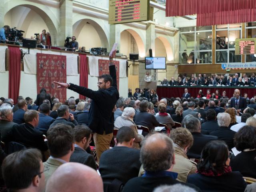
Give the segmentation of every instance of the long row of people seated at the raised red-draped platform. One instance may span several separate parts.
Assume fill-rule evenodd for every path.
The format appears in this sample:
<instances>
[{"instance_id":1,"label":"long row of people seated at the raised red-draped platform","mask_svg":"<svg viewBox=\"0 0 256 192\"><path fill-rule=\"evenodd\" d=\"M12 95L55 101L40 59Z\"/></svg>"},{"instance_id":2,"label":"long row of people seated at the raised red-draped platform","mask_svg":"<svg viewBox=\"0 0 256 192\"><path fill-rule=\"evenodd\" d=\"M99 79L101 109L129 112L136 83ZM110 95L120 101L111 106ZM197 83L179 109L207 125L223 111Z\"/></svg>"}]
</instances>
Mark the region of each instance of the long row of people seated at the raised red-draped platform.
<instances>
[{"instance_id":1,"label":"long row of people seated at the raised red-draped platform","mask_svg":"<svg viewBox=\"0 0 256 192\"><path fill-rule=\"evenodd\" d=\"M252 76L243 74L239 77L239 74L218 74L207 76L206 74L198 74L198 77L191 75L187 77L186 74L179 75L177 80L174 77L171 80L164 78L161 82L162 86L256 86L255 73Z\"/></svg>"}]
</instances>

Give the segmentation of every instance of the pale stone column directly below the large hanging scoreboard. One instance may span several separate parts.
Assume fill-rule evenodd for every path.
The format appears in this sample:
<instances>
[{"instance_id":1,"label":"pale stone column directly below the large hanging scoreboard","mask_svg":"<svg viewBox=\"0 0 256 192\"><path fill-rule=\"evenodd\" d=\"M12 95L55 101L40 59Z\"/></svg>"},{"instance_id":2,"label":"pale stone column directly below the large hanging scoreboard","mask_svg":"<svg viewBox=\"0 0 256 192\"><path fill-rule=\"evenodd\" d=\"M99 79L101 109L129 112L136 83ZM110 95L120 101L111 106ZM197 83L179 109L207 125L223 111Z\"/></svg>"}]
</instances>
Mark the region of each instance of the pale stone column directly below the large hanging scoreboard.
<instances>
[{"instance_id":1,"label":"pale stone column directly below the large hanging scoreboard","mask_svg":"<svg viewBox=\"0 0 256 192\"><path fill-rule=\"evenodd\" d=\"M111 51L112 46L114 43L118 43L116 50L119 50L120 52L120 43L121 43L121 32L120 32L120 24L110 24L110 33L109 33L109 50Z\"/></svg>"}]
</instances>

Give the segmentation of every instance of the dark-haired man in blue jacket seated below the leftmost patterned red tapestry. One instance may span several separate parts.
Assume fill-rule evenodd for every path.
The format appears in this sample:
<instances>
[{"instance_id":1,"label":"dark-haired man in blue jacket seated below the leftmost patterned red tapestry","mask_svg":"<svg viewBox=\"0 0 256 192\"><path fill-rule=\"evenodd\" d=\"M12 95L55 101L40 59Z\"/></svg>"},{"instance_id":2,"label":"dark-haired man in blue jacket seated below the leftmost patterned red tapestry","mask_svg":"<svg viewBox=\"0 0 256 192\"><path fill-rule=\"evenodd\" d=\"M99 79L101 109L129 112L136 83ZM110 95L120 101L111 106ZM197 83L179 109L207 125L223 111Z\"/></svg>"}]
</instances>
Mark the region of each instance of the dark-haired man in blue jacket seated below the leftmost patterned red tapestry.
<instances>
[{"instance_id":1,"label":"dark-haired man in blue jacket seated below the leftmost patterned red tapestry","mask_svg":"<svg viewBox=\"0 0 256 192\"><path fill-rule=\"evenodd\" d=\"M41 104L39 107L39 123L36 130L41 131L45 135L50 125L55 121L55 119L50 117L49 114L50 106L46 103Z\"/></svg>"}]
</instances>

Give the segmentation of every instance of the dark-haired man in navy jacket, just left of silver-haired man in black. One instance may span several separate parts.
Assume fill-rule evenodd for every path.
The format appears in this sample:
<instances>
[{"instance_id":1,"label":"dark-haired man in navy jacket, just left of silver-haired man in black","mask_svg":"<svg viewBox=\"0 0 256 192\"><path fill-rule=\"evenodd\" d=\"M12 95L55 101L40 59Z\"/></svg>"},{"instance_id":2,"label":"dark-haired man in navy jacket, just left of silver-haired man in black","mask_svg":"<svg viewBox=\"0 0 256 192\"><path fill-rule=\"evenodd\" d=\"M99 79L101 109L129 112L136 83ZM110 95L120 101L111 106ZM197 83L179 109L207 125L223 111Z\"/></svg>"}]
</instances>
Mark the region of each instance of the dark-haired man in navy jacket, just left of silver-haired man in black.
<instances>
[{"instance_id":1,"label":"dark-haired man in navy jacket, just left of silver-haired man in black","mask_svg":"<svg viewBox=\"0 0 256 192\"><path fill-rule=\"evenodd\" d=\"M201 125L201 130L206 130L210 133L219 128L218 122L216 121L216 111L214 109L206 111L206 120L207 121Z\"/></svg>"}]
</instances>

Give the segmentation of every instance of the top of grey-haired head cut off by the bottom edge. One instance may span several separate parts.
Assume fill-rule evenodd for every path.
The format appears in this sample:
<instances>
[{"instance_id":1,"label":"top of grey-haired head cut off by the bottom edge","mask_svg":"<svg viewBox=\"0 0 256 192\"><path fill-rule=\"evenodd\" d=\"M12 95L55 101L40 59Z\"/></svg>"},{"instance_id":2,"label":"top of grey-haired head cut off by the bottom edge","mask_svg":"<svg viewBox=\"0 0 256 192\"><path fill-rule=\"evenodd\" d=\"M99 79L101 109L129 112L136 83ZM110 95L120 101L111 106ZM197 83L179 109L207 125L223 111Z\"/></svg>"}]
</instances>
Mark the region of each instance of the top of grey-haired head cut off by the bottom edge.
<instances>
[{"instance_id":1,"label":"top of grey-haired head cut off by the bottom edge","mask_svg":"<svg viewBox=\"0 0 256 192\"><path fill-rule=\"evenodd\" d=\"M157 188L153 192L196 192L193 188L182 185L182 184L175 184L175 185L162 185Z\"/></svg>"}]
</instances>

